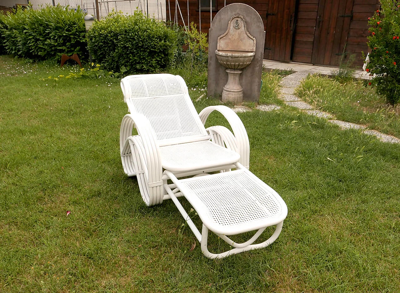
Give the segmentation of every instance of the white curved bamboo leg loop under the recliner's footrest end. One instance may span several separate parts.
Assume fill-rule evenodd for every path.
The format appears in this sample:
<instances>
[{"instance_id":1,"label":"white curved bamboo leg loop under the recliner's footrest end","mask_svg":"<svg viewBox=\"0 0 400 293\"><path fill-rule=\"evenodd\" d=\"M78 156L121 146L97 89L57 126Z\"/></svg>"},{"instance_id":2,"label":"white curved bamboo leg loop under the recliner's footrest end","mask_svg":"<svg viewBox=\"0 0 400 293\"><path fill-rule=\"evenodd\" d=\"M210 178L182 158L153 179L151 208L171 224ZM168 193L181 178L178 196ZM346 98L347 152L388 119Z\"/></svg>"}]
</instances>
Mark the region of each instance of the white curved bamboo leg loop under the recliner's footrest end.
<instances>
[{"instance_id":1,"label":"white curved bamboo leg loop under the recliner's footrest end","mask_svg":"<svg viewBox=\"0 0 400 293\"><path fill-rule=\"evenodd\" d=\"M222 259L222 258L227 257L229 255L234 255L234 254L241 253L241 252L244 252L244 251L249 251L249 250L252 250L252 249L258 249L258 248L267 247L268 245L273 243L278 238L280 232L282 231L282 225L283 225L283 221L278 223L276 225L275 231L271 235L271 237L268 238L266 241L264 241L262 243L251 244L251 245L247 245L245 247L234 248L234 249L230 249L228 251L222 252L222 253L210 253L210 251L208 251L208 245L207 245L207 243L208 243L208 228L205 225L203 225L203 228L202 228L202 239L201 239L201 243L200 243L201 244L201 251L206 257L208 257L210 259ZM264 230L264 229L265 228L262 228L262 230ZM256 233L256 235L257 234L258 234L258 232ZM256 235L254 235L254 236L256 236ZM250 240L255 241L256 239L253 239L254 236ZM258 236L256 238L258 238ZM247 243L249 241L246 241L245 243ZM228 243L228 244L230 244L230 243Z\"/></svg>"}]
</instances>

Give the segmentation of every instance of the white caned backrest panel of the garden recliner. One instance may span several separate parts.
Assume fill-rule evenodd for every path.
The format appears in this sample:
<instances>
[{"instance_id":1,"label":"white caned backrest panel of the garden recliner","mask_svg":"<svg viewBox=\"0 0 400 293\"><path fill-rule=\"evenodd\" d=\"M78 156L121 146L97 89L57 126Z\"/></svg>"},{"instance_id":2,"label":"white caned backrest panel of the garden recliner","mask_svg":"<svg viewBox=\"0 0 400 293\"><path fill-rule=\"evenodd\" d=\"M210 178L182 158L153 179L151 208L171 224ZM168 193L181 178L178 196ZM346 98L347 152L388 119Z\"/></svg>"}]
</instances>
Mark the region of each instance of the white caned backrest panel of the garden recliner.
<instances>
[{"instance_id":1,"label":"white caned backrest panel of the garden recliner","mask_svg":"<svg viewBox=\"0 0 400 293\"><path fill-rule=\"evenodd\" d=\"M131 114L138 112L150 120L160 144L208 136L182 77L131 75L121 80L121 88Z\"/></svg>"}]
</instances>

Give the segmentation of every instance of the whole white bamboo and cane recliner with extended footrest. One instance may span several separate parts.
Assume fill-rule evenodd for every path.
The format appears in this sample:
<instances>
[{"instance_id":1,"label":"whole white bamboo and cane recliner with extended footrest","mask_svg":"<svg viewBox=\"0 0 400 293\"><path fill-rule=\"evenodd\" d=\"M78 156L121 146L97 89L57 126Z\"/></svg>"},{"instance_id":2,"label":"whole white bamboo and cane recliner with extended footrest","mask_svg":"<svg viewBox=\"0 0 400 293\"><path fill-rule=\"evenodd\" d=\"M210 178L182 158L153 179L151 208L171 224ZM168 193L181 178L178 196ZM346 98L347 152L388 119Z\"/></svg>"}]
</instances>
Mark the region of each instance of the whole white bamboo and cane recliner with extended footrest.
<instances>
[{"instance_id":1,"label":"whole white bamboo and cane recliner with extended footrest","mask_svg":"<svg viewBox=\"0 0 400 293\"><path fill-rule=\"evenodd\" d=\"M121 123L122 165L128 176L137 177L146 205L172 199L210 258L265 247L278 237L287 215L286 204L248 171L249 140L235 112L218 105L197 114L183 78L171 74L127 76L121 80L121 88L130 112ZM224 126L204 127L213 111L228 120L233 133ZM137 134L132 135L134 128ZM168 179L172 183L168 184ZM178 201L180 196L198 213L202 233ZM252 244L272 225L276 230L267 241ZM210 253L209 230L234 248ZM245 243L227 237L254 230L258 231Z\"/></svg>"}]
</instances>

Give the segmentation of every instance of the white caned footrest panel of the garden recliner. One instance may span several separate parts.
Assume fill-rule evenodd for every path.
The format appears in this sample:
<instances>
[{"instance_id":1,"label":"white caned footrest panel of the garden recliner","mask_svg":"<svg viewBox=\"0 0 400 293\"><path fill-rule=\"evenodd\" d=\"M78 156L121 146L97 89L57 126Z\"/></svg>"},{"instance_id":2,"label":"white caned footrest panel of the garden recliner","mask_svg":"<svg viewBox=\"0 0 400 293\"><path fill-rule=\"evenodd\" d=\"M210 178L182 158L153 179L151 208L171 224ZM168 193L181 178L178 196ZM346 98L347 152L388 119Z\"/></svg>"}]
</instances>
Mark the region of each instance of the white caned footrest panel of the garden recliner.
<instances>
[{"instance_id":1,"label":"white caned footrest panel of the garden recliner","mask_svg":"<svg viewBox=\"0 0 400 293\"><path fill-rule=\"evenodd\" d=\"M217 234L234 235L282 222L283 199L248 170L182 179L178 188L203 224Z\"/></svg>"}]
</instances>

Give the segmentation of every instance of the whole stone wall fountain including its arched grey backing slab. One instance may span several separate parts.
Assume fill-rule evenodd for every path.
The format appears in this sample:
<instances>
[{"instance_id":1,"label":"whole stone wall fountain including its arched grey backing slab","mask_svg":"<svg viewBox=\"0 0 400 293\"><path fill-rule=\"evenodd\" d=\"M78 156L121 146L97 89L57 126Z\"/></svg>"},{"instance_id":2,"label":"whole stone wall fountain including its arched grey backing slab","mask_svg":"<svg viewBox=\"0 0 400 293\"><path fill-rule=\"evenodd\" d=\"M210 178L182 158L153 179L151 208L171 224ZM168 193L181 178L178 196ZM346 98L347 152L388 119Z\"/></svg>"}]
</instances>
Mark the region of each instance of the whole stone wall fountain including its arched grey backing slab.
<instances>
[{"instance_id":1,"label":"whole stone wall fountain including its arched grey backing slab","mask_svg":"<svg viewBox=\"0 0 400 293\"><path fill-rule=\"evenodd\" d=\"M254 8L234 3L214 17L208 34L209 96L240 104L260 98L264 24Z\"/></svg>"}]
</instances>

